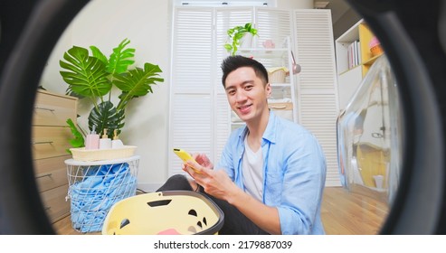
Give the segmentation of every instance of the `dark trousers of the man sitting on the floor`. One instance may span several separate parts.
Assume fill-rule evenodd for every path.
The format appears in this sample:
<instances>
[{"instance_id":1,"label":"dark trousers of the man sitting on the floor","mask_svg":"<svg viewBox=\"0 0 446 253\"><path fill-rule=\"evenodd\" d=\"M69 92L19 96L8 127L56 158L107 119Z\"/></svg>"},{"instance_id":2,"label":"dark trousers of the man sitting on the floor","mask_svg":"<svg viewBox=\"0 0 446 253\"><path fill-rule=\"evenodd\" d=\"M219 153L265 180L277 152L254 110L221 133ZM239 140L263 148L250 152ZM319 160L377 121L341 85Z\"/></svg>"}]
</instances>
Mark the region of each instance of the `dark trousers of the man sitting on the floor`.
<instances>
[{"instance_id":1,"label":"dark trousers of the man sitting on the floor","mask_svg":"<svg viewBox=\"0 0 446 253\"><path fill-rule=\"evenodd\" d=\"M157 192L166 191L194 191L189 184L185 175L176 174L171 176ZM229 204L227 201L214 198L204 192L203 187L199 187L199 192L209 197L220 207L224 213L223 228L219 230L221 235L267 235L268 233L261 230L251 220L246 218L241 211Z\"/></svg>"}]
</instances>

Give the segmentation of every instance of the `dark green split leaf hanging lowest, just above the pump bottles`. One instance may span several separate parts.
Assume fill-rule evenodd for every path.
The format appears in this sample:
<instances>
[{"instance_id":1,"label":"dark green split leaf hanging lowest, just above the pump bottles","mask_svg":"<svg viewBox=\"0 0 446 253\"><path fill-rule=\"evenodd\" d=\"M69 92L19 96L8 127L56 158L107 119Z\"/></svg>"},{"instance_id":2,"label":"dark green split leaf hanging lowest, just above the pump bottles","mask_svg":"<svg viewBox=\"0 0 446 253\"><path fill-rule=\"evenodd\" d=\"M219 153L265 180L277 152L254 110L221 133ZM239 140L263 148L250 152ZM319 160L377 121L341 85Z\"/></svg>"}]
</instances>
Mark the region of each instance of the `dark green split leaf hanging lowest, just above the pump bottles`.
<instances>
[{"instance_id":1,"label":"dark green split leaf hanging lowest, just above the pump bottles","mask_svg":"<svg viewBox=\"0 0 446 253\"><path fill-rule=\"evenodd\" d=\"M96 131L102 135L104 129L108 129L108 136L113 136L113 129L118 130L124 126L124 109L118 110L110 101L104 101L98 107L92 108L89 115L89 128L96 126Z\"/></svg>"}]
</instances>

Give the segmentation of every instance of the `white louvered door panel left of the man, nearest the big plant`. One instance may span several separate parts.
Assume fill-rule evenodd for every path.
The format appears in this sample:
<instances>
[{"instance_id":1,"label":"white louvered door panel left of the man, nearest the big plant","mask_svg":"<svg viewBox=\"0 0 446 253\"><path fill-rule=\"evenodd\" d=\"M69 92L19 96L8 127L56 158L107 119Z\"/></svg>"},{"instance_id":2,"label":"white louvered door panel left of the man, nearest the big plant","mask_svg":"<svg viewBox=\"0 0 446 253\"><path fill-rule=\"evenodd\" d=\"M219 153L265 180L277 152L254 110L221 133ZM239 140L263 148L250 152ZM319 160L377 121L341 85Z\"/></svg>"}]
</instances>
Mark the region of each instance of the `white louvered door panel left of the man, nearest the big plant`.
<instances>
[{"instance_id":1,"label":"white louvered door panel left of the man, nearest the big plant","mask_svg":"<svg viewBox=\"0 0 446 253\"><path fill-rule=\"evenodd\" d=\"M174 14L169 147L213 157L214 11L177 7ZM168 175L184 173L169 152Z\"/></svg>"}]
</instances>

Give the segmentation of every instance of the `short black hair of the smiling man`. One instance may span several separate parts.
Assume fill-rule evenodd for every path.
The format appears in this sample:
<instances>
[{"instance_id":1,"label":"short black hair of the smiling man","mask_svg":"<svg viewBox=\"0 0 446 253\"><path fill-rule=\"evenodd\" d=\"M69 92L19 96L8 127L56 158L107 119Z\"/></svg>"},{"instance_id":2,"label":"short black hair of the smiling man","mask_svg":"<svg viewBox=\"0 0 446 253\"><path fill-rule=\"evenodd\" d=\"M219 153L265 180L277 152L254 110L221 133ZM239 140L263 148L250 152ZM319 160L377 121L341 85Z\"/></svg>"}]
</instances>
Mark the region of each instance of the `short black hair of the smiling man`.
<instances>
[{"instance_id":1,"label":"short black hair of the smiling man","mask_svg":"<svg viewBox=\"0 0 446 253\"><path fill-rule=\"evenodd\" d=\"M223 77L222 77L222 83L223 87L225 86L225 81L228 75L233 71L237 70L242 67L251 67L255 75L260 78L264 85L268 83L268 71L265 69L263 64L259 61L255 61L251 58L244 57L242 55L231 55L228 56L226 59L222 62L222 70L223 70Z\"/></svg>"}]
</instances>

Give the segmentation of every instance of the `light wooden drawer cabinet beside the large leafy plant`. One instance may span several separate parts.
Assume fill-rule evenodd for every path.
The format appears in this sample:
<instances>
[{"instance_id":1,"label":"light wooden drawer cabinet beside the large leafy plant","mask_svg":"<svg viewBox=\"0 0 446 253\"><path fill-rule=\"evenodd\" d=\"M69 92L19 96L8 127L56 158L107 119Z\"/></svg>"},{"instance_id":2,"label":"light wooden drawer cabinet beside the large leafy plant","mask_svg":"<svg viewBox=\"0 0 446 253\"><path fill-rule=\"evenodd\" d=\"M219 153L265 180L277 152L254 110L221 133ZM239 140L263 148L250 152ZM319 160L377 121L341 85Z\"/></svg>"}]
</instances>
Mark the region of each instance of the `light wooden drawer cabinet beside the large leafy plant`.
<instances>
[{"instance_id":1,"label":"light wooden drawer cabinet beside the large leafy plant","mask_svg":"<svg viewBox=\"0 0 446 253\"><path fill-rule=\"evenodd\" d=\"M35 181L43 206L52 222L70 214L67 169L71 155L71 129L68 118L76 123L78 98L38 90L33 110L32 152Z\"/></svg>"}]
</instances>

